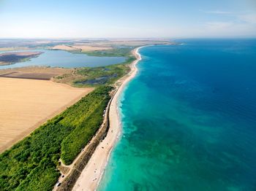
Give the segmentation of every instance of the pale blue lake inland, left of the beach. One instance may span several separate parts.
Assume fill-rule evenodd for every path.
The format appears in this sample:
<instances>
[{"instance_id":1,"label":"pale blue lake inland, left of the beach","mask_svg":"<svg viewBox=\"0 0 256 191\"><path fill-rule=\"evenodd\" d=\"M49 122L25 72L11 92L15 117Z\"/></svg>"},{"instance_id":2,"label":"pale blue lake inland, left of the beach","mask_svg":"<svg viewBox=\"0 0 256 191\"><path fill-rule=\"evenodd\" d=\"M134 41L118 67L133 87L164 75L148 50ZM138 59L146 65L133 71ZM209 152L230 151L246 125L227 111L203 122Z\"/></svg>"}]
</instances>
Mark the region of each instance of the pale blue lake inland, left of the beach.
<instances>
[{"instance_id":1,"label":"pale blue lake inland, left of the beach","mask_svg":"<svg viewBox=\"0 0 256 191\"><path fill-rule=\"evenodd\" d=\"M25 50L27 51L27 50ZM30 50L29 50L30 51ZM122 63L126 58L123 57L97 57L85 54L73 54L64 50L33 50L44 52L31 61L15 63L8 66L0 66L0 69L11 69L24 66L51 66L51 67L97 67L108 66L115 63Z\"/></svg>"}]
</instances>

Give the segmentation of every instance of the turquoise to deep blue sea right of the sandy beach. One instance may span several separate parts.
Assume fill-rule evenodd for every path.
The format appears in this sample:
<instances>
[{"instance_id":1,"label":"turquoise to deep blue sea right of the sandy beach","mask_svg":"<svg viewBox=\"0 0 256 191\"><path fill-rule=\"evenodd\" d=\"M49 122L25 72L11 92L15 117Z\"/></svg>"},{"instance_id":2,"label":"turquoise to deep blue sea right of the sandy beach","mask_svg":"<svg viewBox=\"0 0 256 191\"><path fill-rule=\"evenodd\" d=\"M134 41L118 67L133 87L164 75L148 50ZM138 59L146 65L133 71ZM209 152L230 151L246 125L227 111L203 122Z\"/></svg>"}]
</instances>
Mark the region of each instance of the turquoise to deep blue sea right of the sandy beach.
<instances>
[{"instance_id":1,"label":"turquoise to deep blue sea right of the sandy beach","mask_svg":"<svg viewBox=\"0 0 256 191\"><path fill-rule=\"evenodd\" d=\"M256 40L145 47L98 190L256 190Z\"/></svg>"}]
</instances>

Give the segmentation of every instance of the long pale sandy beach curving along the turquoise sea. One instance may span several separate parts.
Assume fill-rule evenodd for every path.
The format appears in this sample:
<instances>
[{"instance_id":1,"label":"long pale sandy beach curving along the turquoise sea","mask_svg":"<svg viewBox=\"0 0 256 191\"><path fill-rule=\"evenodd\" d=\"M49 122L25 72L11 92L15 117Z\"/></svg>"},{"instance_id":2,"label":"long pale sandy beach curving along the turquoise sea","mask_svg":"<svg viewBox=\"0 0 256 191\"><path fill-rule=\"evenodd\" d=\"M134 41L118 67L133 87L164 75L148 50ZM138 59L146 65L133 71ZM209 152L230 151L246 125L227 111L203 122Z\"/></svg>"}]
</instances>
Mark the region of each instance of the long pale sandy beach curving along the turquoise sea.
<instances>
[{"instance_id":1,"label":"long pale sandy beach curving along the turquoise sea","mask_svg":"<svg viewBox=\"0 0 256 191\"><path fill-rule=\"evenodd\" d=\"M131 64L131 71L121 79L118 79L116 82L117 90L113 96L109 110L110 129L108 130L108 135L98 145L94 154L91 156L89 163L86 165L86 168L83 169L78 181L75 183L75 186L72 189L74 191L96 190L97 186L99 185L102 175L104 174L105 167L108 164L110 153L121 133L121 119L118 111L118 98L127 83L133 79L138 72L136 65L139 61L141 61L141 55L139 53L140 48L142 47L138 47L132 52L137 59Z\"/></svg>"}]
</instances>

